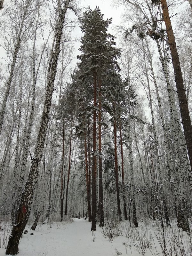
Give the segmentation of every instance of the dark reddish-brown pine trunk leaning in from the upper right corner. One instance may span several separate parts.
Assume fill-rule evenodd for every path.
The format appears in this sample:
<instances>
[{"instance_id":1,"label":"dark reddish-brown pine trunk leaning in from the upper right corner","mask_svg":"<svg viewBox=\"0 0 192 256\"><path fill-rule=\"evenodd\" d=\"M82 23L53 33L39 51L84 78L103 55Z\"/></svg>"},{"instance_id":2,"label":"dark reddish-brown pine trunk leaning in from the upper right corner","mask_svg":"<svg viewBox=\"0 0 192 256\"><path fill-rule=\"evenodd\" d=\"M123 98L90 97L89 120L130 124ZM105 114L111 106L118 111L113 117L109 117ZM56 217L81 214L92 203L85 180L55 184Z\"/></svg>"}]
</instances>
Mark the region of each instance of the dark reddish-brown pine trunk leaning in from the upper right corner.
<instances>
[{"instance_id":1,"label":"dark reddish-brown pine trunk leaning in from the upper right corner","mask_svg":"<svg viewBox=\"0 0 192 256\"><path fill-rule=\"evenodd\" d=\"M191 119L189 116L188 102L185 94L179 55L177 52L177 46L175 43L175 37L173 34L172 24L171 24L166 0L161 0L161 5L162 5L164 22L165 22L167 36L168 36L169 45L170 45L173 69L175 73L175 83L176 83L177 94L179 98L179 106L180 106L183 130L184 130L184 135L185 135L185 140L186 140L186 145L188 150L189 161L192 168L192 126L191 126ZM189 180L192 180L192 174L189 175Z\"/></svg>"}]
</instances>

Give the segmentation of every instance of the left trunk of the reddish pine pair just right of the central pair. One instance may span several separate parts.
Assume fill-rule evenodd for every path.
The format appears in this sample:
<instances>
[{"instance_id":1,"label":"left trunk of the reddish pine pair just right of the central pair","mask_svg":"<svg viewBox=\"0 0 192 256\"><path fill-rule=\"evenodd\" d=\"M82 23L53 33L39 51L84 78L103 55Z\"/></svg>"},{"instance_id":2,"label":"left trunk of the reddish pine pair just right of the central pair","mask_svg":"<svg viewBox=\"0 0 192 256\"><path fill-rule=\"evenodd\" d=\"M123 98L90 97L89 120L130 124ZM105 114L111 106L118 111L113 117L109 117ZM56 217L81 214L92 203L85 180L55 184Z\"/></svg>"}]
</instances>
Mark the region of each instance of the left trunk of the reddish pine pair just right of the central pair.
<instances>
[{"instance_id":1,"label":"left trunk of the reddish pine pair just right of the central pair","mask_svg":"<svg viewBox=\"0 0 192 256\"><path fill-rule=\"evenodd\" d=\"M115 105L113 105L113 111L115 113ZM117 193L117 210L119 220L121 221L121 206L119 197L119 179L118 179L118 162L117 162L117 139L116 139L116 118L114 119L114 144L115 144L115 179L116 179L116 193Z\"/></svg>"}]
</instances>

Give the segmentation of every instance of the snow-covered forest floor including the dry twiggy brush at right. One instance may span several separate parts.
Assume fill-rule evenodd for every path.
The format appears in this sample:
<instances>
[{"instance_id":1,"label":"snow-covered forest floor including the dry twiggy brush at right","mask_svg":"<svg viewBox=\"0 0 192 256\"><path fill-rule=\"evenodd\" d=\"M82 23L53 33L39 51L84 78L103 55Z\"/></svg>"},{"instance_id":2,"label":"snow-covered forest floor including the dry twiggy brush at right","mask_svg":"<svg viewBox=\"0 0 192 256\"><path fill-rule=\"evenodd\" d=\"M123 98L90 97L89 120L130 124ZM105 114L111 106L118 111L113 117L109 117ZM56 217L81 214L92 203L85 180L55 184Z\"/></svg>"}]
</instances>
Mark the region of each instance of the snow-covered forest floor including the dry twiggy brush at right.
<instances>
[{"instance_id":1,"label":"snow-covered forest floor including the dry twiggy brush at right","mask_svg":"<svg viewBox=\"0 0 192 256\"><path fill-rule=\"evenodd\" d=\"M23 234L19 244L19 256L151 256L164 255L162 232L156 222L149 221L148 227L140 222L140 228L129 228L128 222L120 225L111 223L110 228L97 226L91 231L91 223L84 219L73 219L72 222L54 222L38 225L35 231ZM174 226L174 223L173 223ZM109 232L108 232L109 231ZM1 231L2 232L2 231ZM33 235L31 235L33 233ZM108 237L107 237L108 236ZM114 237L113 237L114 236ZM116 237L115 237L116 236ZM5 255L5 240L0 236L0 256ZM191 235L178 228L167 228L165 232L167 256L192 256ZM4 242L3 242L4 240ZM161 249L162 248L162 249ZM164 249L163 249L164 250ZM177 250L174 251L174 250Z\"/></svg>"}]
</instances>

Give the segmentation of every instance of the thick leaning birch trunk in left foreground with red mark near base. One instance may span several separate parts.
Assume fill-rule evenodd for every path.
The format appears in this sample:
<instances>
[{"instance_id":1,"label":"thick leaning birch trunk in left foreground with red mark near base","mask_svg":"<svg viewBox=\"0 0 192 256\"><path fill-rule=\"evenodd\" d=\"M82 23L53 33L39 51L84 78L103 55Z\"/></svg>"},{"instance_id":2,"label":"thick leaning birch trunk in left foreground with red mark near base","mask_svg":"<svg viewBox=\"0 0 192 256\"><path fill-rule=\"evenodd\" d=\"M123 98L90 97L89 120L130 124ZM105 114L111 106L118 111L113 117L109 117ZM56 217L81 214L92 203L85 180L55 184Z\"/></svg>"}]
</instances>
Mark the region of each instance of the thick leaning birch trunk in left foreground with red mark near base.
<instances>
[{"instance_id":1,"label":"thick leaning birch trunk in left foreground with red mark near base","mask_svg":"<svg viewBox=\"0 0 192 256\"><path fill-rule=\"evenodd\" d=\"M70 0L66 0L63 8L61 8L60 2L58 2L59 21L58 21L58 27L56 31L56 43L55 43L50 77L49 77L48 84L46 86L46 99L44 102L44 109L42 113L41 124L39 127L39 133L37 136L35 157L31 161L31 168L28 175L28 181L26 182L25 189L21 196L20 206L16 214L17 222L12 227L11 235L7 244L6 254L15 255L18 253L19 240L24 228L26 227L30 210L31 210L31 204L33 202L33 195L34 195L37 178L38 178L38 172L37 172L38 164L42 159L44 141L45 141L46 131L49 123L49 112L51 108L52 93L54 91L54 81L55 81L55 76L57 72L58 56L60 53L60 40L61 40L65 14L68 9L69 1Z\"/></svg>"}]
</instances>

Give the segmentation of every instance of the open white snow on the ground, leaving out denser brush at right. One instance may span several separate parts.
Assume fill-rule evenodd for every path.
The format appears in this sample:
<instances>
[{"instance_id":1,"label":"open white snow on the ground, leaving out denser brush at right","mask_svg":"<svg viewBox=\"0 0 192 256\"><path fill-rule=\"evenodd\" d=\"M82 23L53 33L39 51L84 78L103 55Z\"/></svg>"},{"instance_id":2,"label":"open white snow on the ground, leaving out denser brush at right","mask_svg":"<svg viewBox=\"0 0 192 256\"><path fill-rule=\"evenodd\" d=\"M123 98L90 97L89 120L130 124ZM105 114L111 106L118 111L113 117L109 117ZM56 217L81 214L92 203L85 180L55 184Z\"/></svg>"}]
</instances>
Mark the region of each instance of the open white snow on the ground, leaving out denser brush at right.
<instances>
[{"instance_id":1,"label":"open white snow on the ground, leaving out denser brush at right","mask_svg":"<svg viewBox=\"0 0 192 256\"><path fill-rule=\"evenodd\" d=\"M156 235L155 233L153 234L153 232L155 232L155 229L157 228L156 222L150 222L148 228L146 228L146 223L142 224L142 222L140 222L140 228L137 229L136 233L134 231L136 228L129 229L128 222L126 223L127 228L125 228L125 223L121 224L122 227L120 227L120 236L115 237L113 243L111 243L107 237L104 237L100 227L97 226L97 230L92 232L91 223L84 219L73 219L73 222L67 223L54 222L53 224L47 223L45 225L38 225L35 231L30 230L28 226L26 227L28 233L26 235L23 234L20 240L19 253L17 255L139 256L142 255L142 252L139 253L141 248L139 247L140 239L137 235L138 233L140 233L142 237L145 235L148 237L145 239L146 244L150 240L150 250L146 248L146 252L143 255L163 255L158 240L154 240ZM151 227L153 227L153 230ZM129 232L126 231L127 229L129 229ZM170 228L169 230L166 230L167 234L169 235L173 231ZM30 235L31 233L33 233L33 235ZM129 236L129 238L126 236ZM184 239L184 246L187 246L187 236L187 234L184 234L182 238ZM133 238L136 240L135 242L133 242ZM154 254L152 254L151 251L153 251ZM187 254L185 254L186 256L190 255L189 251L190 250L187 250ZM0 256L4 255L5 249L0 248Z\"/></svg>"}]
</instances>

